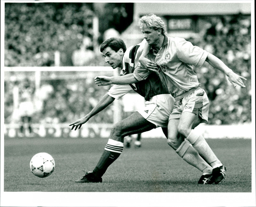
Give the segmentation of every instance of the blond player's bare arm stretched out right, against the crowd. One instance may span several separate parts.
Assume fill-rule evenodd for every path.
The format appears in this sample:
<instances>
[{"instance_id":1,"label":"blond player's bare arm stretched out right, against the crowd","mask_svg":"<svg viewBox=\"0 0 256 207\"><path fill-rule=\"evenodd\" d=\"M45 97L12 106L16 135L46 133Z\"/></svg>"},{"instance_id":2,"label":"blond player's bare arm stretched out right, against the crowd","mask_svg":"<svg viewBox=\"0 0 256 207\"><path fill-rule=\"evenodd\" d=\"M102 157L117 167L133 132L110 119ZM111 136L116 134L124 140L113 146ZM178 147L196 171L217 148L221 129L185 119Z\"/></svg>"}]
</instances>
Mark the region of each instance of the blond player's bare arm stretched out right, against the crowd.
<instances>
[{"instance_id":1,"label":"blond player's bare arm stretched out right, against the crowd","mask_svg":"<svg viewBox=\"0 0 256 207\"><path fill-rule=\"evenodd\" d=\"M243 80L246 80L246 78L234 73L230 68L228 68L227 65L225 65L225 63L223 63L215 55L212 55L211 53L209 53L205 61L208 62L210 65L212 65L212 67L217 68L218 70L224 72L228 76L229 82L234 87L236 87L236 84L240 85L241 87L245 87Z\"/></svg>"}]
</instances>

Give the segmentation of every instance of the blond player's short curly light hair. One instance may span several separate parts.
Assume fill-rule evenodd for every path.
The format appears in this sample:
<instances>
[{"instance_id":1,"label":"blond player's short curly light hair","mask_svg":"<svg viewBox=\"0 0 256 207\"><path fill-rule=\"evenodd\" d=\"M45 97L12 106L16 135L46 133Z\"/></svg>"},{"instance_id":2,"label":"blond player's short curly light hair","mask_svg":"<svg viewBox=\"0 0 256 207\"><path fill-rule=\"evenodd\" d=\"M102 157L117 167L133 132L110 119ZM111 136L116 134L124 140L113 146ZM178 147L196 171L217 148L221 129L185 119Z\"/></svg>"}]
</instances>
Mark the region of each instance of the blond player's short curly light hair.
<instances>
[{"instance_id":1,"label":"blond player's short curly light hair","mask_svg":"<svg viewBox=\"0 0 256 207\"><path fill-rule=\"evenodd\" d=\"M142 28L143 25L146 25L149 29L154 30L160 28L162 30L163 35L167 34L163 19L157 17L155 14L149 14L141 17L139 19L140 28Z\"/></svg>"}]
</instances>

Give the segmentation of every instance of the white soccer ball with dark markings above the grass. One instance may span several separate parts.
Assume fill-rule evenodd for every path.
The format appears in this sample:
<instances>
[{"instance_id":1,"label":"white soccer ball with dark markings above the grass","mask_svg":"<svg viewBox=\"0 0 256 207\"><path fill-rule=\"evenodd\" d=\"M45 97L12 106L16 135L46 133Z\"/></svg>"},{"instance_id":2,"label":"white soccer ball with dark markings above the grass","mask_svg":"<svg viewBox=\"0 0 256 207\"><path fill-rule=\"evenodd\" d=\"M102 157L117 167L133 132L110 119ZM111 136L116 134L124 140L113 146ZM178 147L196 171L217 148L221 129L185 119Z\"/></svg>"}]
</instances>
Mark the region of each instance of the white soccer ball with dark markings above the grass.
<instances>
[{"instance_id":1,"label":"white soccer ball with dark markings above the grass","mask_svg":"<svg viewBox=\"0 0 256 207\"><path fill-rule=\"evenodd\" d=\"M40 178L45 178L52 174L54 167L54 159L46 152L37 153L30 160L31 172Z\"/></svg>"}]
</instances>

